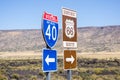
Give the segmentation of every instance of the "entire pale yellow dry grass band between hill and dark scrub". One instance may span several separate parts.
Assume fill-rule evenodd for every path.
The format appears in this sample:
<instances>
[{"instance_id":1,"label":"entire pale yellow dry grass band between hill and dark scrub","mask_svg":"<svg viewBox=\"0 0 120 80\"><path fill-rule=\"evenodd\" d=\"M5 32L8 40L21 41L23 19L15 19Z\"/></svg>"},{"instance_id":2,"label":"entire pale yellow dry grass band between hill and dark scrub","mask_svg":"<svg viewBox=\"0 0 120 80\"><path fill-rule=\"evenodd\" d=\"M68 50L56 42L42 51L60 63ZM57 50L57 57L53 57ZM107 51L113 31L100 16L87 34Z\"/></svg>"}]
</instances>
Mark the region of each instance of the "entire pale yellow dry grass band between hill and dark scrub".
<instances>
[{"instance_id":1,"label":"entire pale yellow dry grass band between hill and dark scrub","mask_svg":"<svg viewBox=\"0 0 120 80\"><path fill-rule=\"evenodd\" d=\"M63 54L57 54L63 58ZM0 59L40 59L41 52L24 51L24 52L0 52ZM120 52L97 52L97 53L77 53L77 58L97 58L97 59L120 59Z\"/></svg>"}]
</instances>

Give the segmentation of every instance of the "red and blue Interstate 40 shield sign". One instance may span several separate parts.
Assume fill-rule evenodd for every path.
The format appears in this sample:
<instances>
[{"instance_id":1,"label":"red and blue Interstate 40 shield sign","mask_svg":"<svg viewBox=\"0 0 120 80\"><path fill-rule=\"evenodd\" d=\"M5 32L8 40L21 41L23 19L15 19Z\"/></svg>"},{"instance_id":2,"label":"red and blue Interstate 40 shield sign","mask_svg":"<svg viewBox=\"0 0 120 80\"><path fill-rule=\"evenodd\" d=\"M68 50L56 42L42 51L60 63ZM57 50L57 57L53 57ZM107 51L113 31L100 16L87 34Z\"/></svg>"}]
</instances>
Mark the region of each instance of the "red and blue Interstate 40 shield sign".
<instances>
[{"instance_id":1,"label":"red and blue Interstate 40 shield sign","mask_svg":"<svg viewBox=\"0 0 120 80\"><path fill-rule=\"evenodd\" d=\"M52 48L58 38L58 19L57 16L44 13L43 15L43 36L46 44Z\"/></svg>"}]
</instances>

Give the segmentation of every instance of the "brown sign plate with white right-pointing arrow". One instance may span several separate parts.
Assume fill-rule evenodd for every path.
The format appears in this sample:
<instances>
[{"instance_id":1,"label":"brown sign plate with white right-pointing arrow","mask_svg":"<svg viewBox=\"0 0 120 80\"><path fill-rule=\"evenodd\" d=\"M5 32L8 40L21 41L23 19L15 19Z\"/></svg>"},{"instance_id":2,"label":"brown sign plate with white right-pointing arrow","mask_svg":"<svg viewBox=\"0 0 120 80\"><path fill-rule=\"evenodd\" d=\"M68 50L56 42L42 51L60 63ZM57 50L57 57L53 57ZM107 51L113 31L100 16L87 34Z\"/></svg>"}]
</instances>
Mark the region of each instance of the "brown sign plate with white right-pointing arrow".
<instances>
[{"instance_id":1,"label":"brown sign plate with white right-pointing arrow","mask_svg":"<svg viewBox=\"0 0 120 80\"><path fill-rule=\"evenodd\" d=\"M64 50L64 69L76 68L76 51Z\"/></svg>"}]
</instances>

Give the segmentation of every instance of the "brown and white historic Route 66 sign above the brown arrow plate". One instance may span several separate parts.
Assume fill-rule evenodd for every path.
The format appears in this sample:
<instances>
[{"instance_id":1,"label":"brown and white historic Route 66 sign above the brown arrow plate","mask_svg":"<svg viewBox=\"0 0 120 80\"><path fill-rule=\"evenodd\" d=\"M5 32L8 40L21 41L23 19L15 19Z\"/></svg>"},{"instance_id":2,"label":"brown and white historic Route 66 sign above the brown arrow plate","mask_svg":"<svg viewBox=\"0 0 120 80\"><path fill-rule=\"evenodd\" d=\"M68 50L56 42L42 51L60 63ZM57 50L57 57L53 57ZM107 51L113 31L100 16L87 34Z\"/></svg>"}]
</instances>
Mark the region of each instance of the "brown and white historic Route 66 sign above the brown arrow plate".
<instances>
[{"instance_id":1,"label":"brown and white historic Route 66 sign above the brown arrow plate","mask_svg":"<svg viewBox=\"0 0 120 80\"><path fill-rule=\"evenodd\" d=\"M76 11L62 9L63 47L77 48Z\"/></svg>"}]
</instances>

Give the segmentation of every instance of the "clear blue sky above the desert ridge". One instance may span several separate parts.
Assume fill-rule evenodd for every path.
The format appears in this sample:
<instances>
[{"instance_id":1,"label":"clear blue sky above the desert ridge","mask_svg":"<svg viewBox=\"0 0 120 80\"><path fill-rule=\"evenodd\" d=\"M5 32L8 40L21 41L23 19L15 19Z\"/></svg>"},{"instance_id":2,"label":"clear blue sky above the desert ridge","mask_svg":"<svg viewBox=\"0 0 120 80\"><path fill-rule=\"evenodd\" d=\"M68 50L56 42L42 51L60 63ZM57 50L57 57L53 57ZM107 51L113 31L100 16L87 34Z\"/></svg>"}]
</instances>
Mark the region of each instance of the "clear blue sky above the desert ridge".
<instances>
[{"instance_id":1,"label":"clear blue sky above the desert ridge","mask_svg":"<svg viewBox=\"0 0 120 80\"><path fill-rule=\"evenodd\" d=\"M120 0L0 0L0 30L40 29L44 11L62 28L62 8L77 12L77 27L120 25Z\"/></svg>"}]
</instances>

